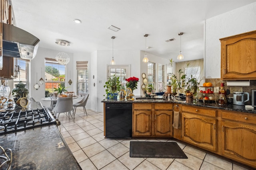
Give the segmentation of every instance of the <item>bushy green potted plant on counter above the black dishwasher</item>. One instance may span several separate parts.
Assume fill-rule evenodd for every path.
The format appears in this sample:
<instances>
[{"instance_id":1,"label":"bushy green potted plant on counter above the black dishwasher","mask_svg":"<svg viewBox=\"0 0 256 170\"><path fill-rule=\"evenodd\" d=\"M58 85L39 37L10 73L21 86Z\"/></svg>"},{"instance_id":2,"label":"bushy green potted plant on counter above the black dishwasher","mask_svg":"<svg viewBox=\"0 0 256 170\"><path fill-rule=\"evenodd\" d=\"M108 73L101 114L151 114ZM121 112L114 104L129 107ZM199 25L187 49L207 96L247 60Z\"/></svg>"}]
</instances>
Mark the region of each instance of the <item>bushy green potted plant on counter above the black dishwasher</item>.
<instances>
[{"instance_id":1,"label":"bushy green potted plant on counter above the black dishwasher","mask_svg":"<svg viewBox=\"0 0 256 170\"><path fill-rule=\"evenodd\" d=\"M104 88L106 91L106 97L108 99L117 99L118 92L121 89L120 77L115 75L108 76L108 80L105 82ZM105 95L104 95L105 96Z\"/></svg>"}]
</instances>

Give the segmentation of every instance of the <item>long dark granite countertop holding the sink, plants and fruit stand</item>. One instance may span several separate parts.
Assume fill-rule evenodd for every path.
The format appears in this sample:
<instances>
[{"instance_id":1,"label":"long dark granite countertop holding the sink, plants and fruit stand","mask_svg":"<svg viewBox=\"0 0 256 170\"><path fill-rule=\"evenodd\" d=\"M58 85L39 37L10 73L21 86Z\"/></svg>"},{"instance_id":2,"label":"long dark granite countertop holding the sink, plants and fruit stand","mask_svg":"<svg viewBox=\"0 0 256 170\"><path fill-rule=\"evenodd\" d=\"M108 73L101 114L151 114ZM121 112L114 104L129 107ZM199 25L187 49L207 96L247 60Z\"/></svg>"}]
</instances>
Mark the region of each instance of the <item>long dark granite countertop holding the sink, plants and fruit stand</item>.
<instances>
[{"instance_id":1,"label":"long dark granite countertop holding the sink, plants and fruit stand","mask_svg":"<svg viewBox=\"0 0 256 170\"><path fill-rule=\"evenodd\" d=\"M239 111L239 112L245 112L245 113L254 113L256 114L256 108L254 109L247 109L245 106L242 105L234 105L234 104L226 104L225 106L219 106L218 101L205 101L203 102L198 101L195 103L186 103L185 100L172 100L170 98L166 98L166 100L136 100L136 98L143 98L143 96L134 96L134 100L128 100L128 99L104 99L101 102L104 103L175 103L175 104L185 104L189 106L200 106L200 107L210 107L215 109L224 109L229 111ZM154 96L154 98L162 98L162 96Z\"/></svg>"}]
</instances>

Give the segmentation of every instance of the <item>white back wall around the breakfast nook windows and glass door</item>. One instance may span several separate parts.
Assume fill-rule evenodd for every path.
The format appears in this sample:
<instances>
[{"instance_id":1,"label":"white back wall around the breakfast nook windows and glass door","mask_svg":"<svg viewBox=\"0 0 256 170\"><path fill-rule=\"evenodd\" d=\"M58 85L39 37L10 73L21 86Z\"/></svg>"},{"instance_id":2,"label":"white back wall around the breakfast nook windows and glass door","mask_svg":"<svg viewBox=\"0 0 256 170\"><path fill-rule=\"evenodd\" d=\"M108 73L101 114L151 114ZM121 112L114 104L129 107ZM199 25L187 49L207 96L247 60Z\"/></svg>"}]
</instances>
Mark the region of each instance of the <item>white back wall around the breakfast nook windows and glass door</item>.
<instances>
[{"instance_id":1,"label":"white back wall around the breakfast nook windows and glass door","mask_svg":"<svg viewBox=\"0 0 256 170\"><path fill-rule=\"evenodd\" d=\"M44 58L55 58L56 54L60 51L54 51L50 49L38 48L36 57L31 61L31 81L29 84L29 96L33 97L36 101L42 102L44 106L50 106L50 102L44 102L40 100L44 98L44 84L39 84L38 80L42 77L44 79ZM116 64L130 64L130 76L135 76L140 79L138 82L138 89L134 90L134 95L142 95L141 85L142 85L142 73L148 72L148 64L143 63L142 59L144 57L144 51L115 51L114 60ZM91 54L86 53L68 53L70 56L70 63L66 66L66 86L68 91L76 92L77 89L77 72L76 72L76 61L88 61L88 81L89 83L89 99L87 103L88 109L93 111L103 111L103 103L101 102L105 97L104 84L107 78L107 64L110 63L112 59L112 51L94 51ZM157 57L150 53L147 53L148 59L152 63L156 64L166 64L169 61L161 57ZM42 69L42 73L41 73ZM36 73L38 77L36 80ZM93 79L94 76L94 79ZM158 75L157 75L158 76ZM157 80L158 77L156 77ZM72 80L72 84L69 85L68 81ZM101 80L101 83L99 81ZM34 89L34 85L38 82L40 88L38 90ZM95 86L94 86L95 83Z\"/></svg>"}]
</instances>

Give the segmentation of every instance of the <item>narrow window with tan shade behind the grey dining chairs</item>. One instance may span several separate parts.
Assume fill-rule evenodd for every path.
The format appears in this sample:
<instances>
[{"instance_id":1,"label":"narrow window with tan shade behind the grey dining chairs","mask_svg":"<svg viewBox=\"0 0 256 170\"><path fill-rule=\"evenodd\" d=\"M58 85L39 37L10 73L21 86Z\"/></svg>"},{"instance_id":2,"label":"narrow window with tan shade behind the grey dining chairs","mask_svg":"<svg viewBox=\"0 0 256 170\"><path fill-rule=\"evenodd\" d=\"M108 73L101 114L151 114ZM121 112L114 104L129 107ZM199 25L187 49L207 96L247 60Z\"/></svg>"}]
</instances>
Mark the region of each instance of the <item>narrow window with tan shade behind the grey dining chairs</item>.
<instances>
[{"instance_id":1,"label":"narrow window with tan shade behind the grey dining chairs","mask_svg":"<svg viewBox=\"0 0 256 170\"><path fill-rule=\"evenodd\" d=\"M77 94L88 93L88 61L76 61Z\"/></svg>"}]
</instances>

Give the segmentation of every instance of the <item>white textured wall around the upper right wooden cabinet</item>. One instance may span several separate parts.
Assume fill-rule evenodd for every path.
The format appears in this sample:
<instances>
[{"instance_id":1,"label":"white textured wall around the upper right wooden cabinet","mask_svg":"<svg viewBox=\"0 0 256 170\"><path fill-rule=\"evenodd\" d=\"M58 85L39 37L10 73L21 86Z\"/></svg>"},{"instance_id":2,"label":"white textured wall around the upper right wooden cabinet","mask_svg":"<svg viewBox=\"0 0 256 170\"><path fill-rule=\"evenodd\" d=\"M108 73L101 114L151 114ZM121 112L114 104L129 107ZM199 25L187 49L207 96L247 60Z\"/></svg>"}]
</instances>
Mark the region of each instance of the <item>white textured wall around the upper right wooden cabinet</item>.
<instances>
[{"instance_id":1,"label":"white textured wall around the upper right wooden cabinet","mask_svg":"<svg viewBox=\"0 0 256 170\"><path fill-rule=\"evenodd\" d=\"M256 30L256 2L206 20L205 76L220 78L220 38Z\"/></svg>"}]
</instances>

